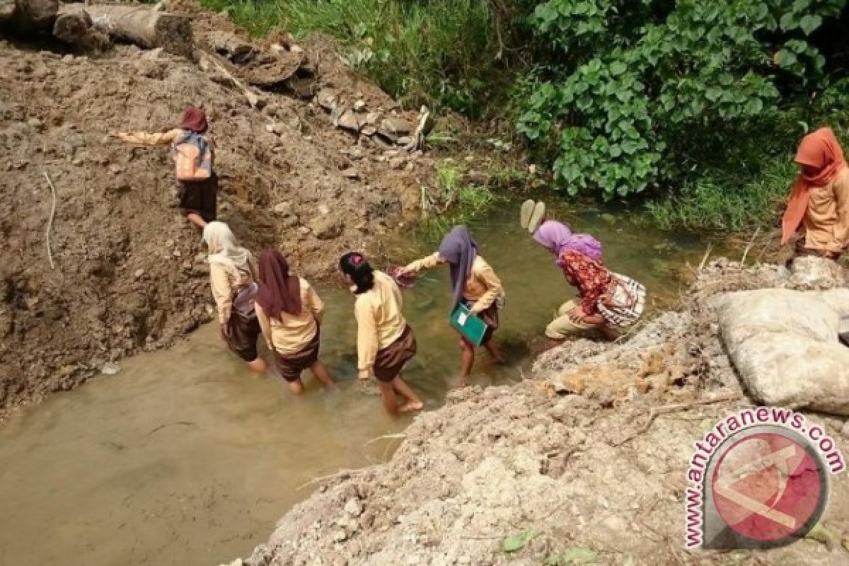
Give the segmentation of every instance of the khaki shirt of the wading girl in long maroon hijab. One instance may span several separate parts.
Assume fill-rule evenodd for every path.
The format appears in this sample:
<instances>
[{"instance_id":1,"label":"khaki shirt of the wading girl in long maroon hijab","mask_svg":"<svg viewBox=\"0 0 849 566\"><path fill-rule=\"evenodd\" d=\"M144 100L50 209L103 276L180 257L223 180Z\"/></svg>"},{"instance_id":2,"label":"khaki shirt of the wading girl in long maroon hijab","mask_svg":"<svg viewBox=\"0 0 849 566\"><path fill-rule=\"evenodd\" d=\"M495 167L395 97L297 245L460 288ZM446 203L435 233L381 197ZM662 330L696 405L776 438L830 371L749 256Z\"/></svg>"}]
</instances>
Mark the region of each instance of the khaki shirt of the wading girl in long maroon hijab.
<instances>
[{"instance_id":1,"label":"khaki shirt of the wading girl in long maroon hijab","mask_svg":"<svg viewBox=\"0 0 849 566\"><path fill-rule=\"evenodd\" d=\"M276 350L280 356L291 356L303 350L318 332L324 314L324 303L315 289L303 277L298 280L301 282L301 314L281 312L278 320L268 317L259 303L255 305L268 350Z\"/></svg>"}]
</instances>

